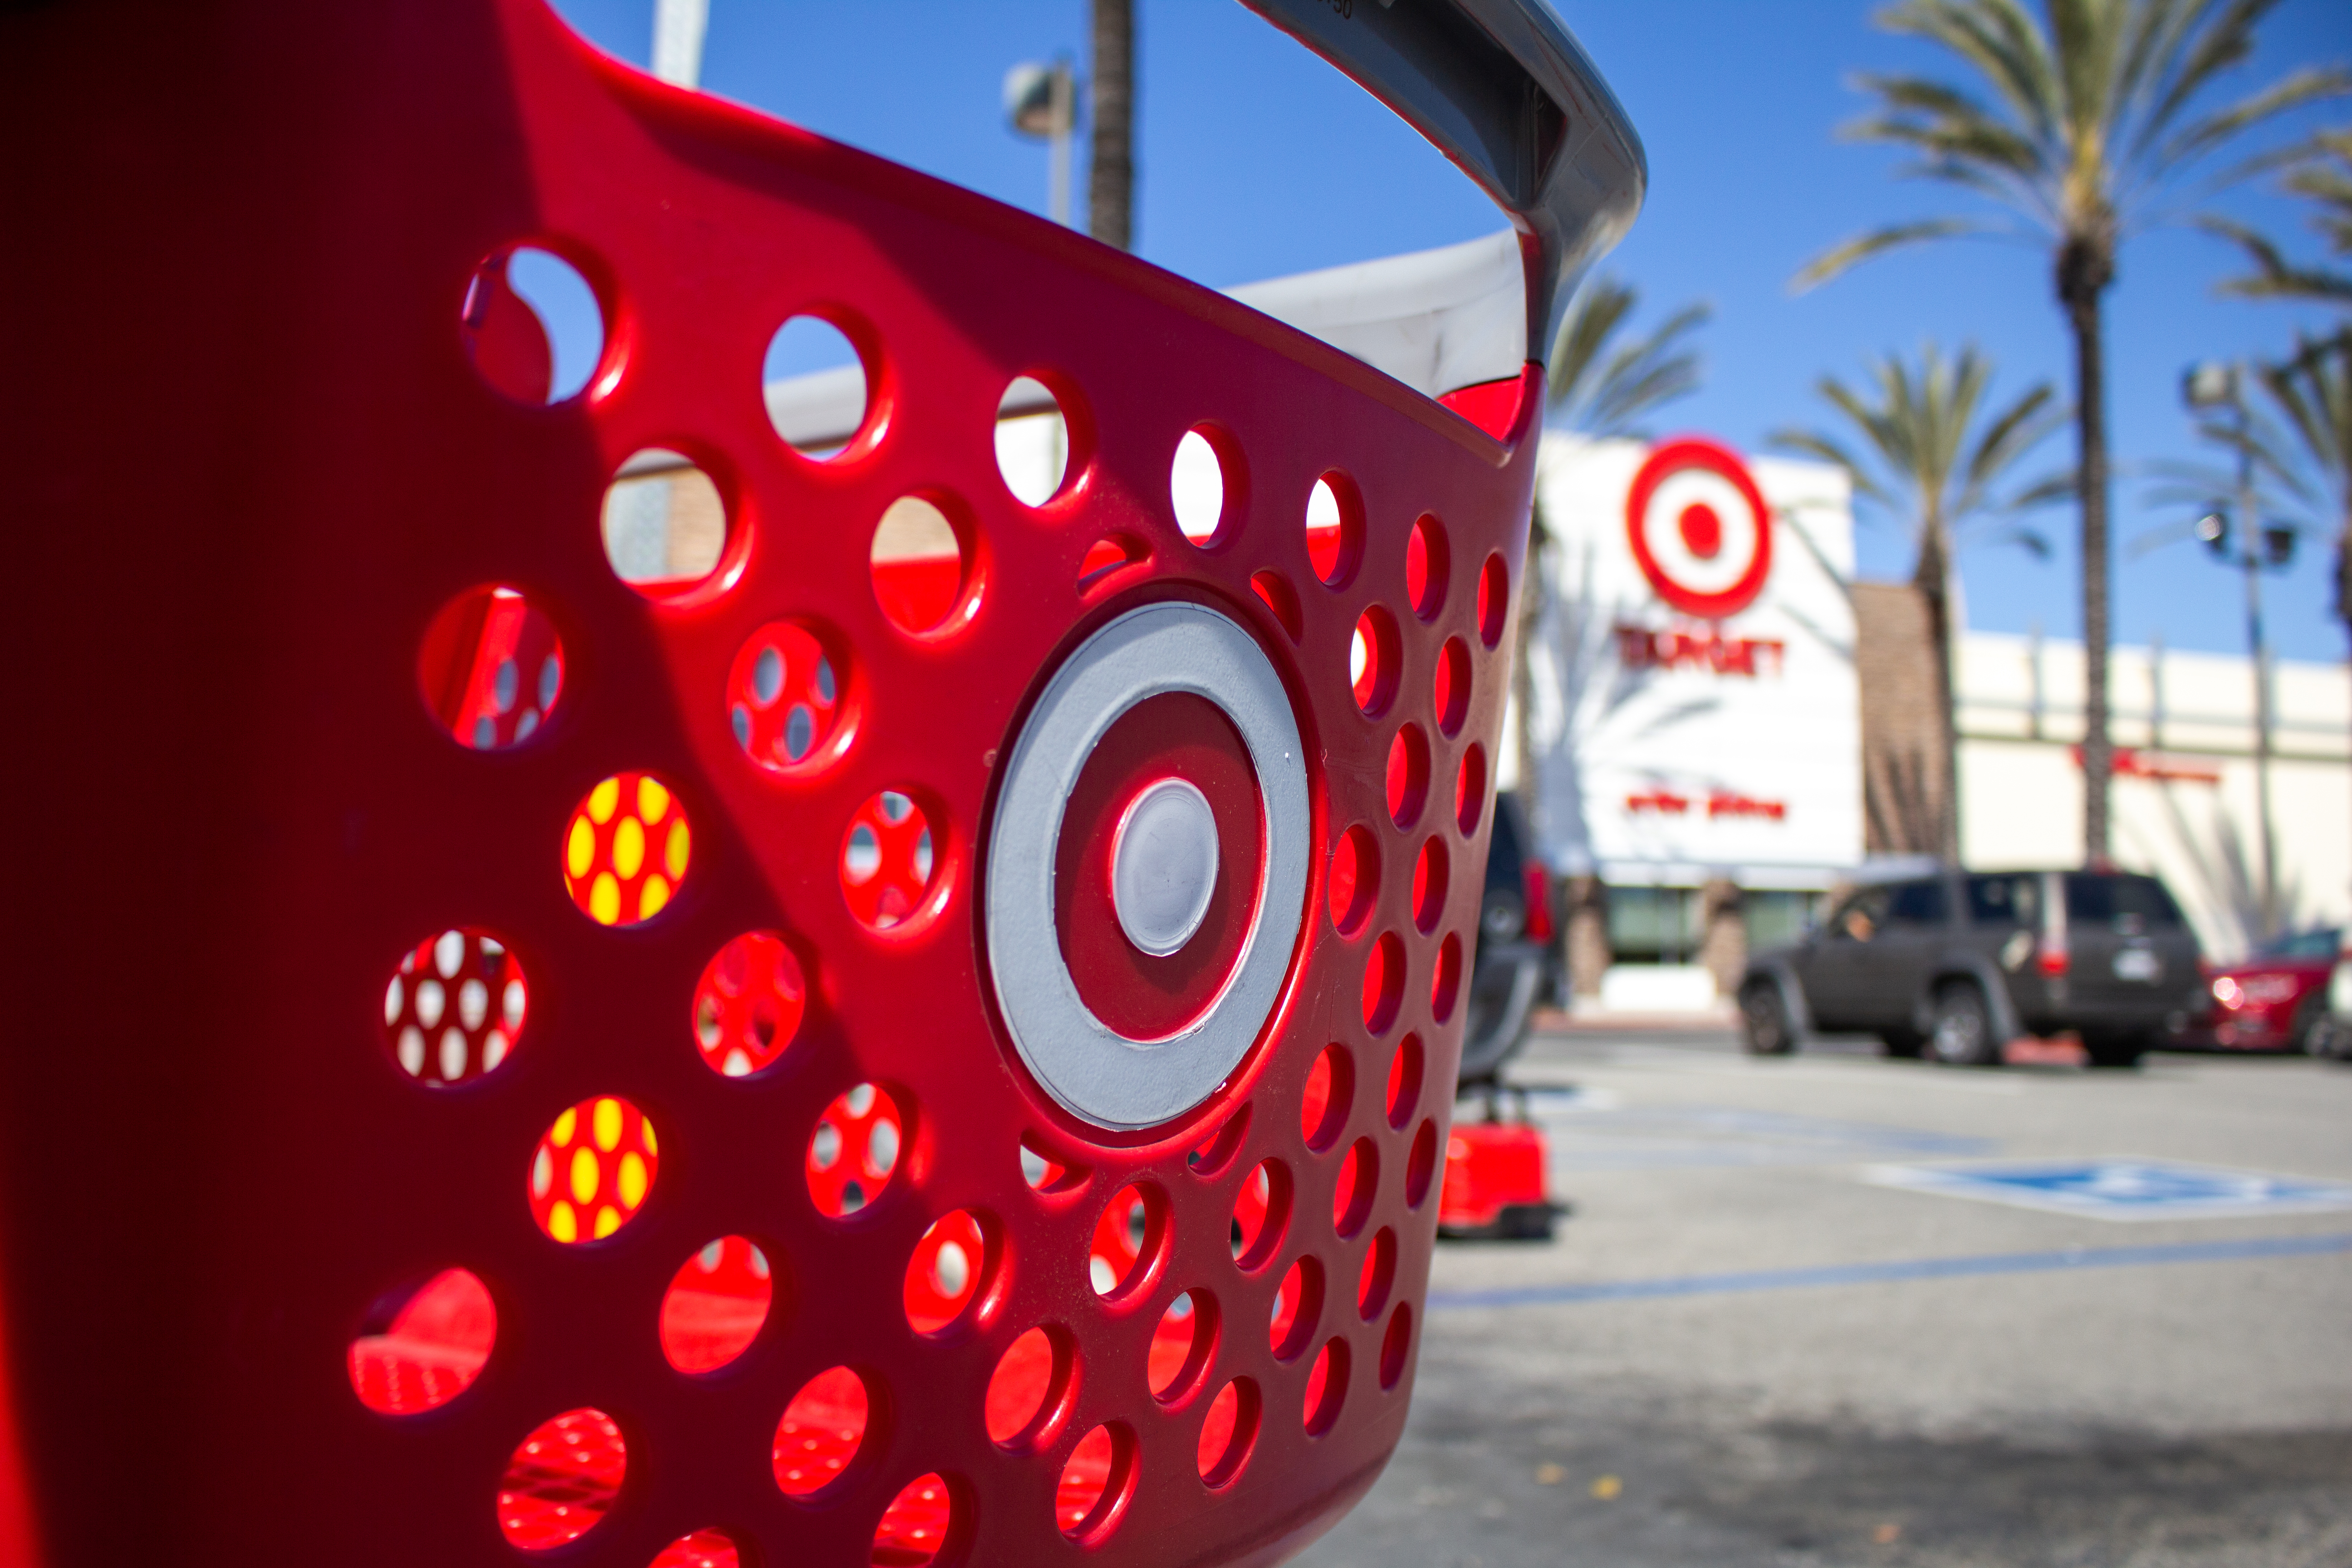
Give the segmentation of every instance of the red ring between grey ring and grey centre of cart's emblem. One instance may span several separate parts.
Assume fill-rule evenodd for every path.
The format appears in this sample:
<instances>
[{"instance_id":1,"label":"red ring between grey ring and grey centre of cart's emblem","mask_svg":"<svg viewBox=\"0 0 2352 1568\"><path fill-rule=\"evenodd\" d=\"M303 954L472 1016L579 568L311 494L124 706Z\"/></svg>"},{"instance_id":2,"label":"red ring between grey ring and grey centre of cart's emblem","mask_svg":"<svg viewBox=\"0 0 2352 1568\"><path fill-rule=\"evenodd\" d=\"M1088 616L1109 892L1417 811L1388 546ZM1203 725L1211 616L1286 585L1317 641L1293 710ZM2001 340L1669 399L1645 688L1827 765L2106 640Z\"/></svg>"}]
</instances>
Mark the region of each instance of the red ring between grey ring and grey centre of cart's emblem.
<instances>
[{"instance_id":1,"label":"red ring between grey ring and grey centre of cart's emblem","mask_svg":"<svg viewBox=\"0 0 2352 1568\"><path fill-rule=\"evenodd\" d=\"M1176 952L1150 957L1120 926L1110 856L1120 818L1164 778L1209 799L1218 856L1200 929ZM1054 846L1054 933L1080 999L1127 1039L1167 1039L1200 1018L1249 940L1263 865L1258 773L1232 719L1190 691L1129 708L1087 757Z\"/></svg>"}]
</instances>

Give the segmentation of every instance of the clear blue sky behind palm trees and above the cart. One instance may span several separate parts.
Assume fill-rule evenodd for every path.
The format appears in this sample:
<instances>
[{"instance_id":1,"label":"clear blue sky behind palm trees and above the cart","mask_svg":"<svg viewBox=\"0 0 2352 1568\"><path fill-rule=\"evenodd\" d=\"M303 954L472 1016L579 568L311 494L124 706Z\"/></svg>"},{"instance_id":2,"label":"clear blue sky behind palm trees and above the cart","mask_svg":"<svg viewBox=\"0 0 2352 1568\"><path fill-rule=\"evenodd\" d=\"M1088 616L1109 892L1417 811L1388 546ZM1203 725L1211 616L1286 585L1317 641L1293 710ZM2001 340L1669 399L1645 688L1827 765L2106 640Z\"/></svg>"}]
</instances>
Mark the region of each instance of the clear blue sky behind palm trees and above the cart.
<instances>
[{"instance_id":1,"label":"clear blue sky behind palm trees and above the cart","mask_svg":"<svg viewBox=\"0 0 2352 1568\"><path fill-rule=\"evenodd\" d=\"M1976 341L1999 364L1994 395L2037 378L2067 390L2070 350L2049 292L2046 254L2013 244L1943 244L1872 261L1804 296L1788 277L1860 228L1945 212L1952 197L1891 176L1896 158L1839 143L1863 99L1853 71L1943 71L1943 56L1877 33L1853 0L1555 0L1635 120L1651 195L1606 263L1642 289L1644 320L1684 301L1715 306L1700 336L1705 386L1661 416L1757 451L1766 433L1818 423L1820 374L1856 374L1865 355L1924 339ZM1207 284L1449 244L1498 226L1477 190L1381 103L1230 0L1138 0L1138 252ZM557 0L600 47L644 63L652 0ZM1004 129L1000 82L1023 59L1084 66L1084 0L710 0L703 87L840 141L1042 212L1042 143ZM2246 87L2284 68L2352 59L2352 7L2286 0L2265 24ZM2333 120L2352 120L2338 106ZM2305 120L2303 125L2312 125ZM1084 193L1084 167L1077 176ZM2227 209L2310 254L2300 212L2267 193ZM2213 282L2232 256L2194 233L2126 244L2110 292L2114 616L2122 642L2241 651L2237 583L2190 543L2131 557L2124 541L2178 517L2136 477L2194 456L2180 369L2201 357L2277 355L2314 310L2225 301ZM2067 437L2046 447L2051 463ZM2072 512L2042 527L2051 562L2016 548L1962 555L1969 621L1985 630L2077 630ZM2293 571L2265 583L2274 649L2338 661L2328 614L2331 541L2305 538ZM1863 520L1870 576L1907 571L1907 545Z\"/></svg>"}]
</instances>

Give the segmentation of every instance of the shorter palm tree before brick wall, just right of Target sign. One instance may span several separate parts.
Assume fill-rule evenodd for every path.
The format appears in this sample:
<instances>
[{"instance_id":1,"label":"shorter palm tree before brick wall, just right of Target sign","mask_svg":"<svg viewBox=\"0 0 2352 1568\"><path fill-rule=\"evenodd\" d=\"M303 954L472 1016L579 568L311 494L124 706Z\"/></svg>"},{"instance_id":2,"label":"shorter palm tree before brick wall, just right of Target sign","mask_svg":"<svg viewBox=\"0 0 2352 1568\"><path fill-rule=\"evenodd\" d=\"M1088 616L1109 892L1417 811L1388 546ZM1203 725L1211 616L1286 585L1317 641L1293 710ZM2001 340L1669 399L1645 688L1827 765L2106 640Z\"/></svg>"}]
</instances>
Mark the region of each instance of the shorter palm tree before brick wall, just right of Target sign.
<instances>
[{"instance_id":1,"label":"shorter palm tree before brick wall, just right of Target sign","mask_svg":"<svg viewBox=\"0 0 2352 1568\"><path fill-rule=\"evenodd\" d=\"M1978 418L1992 362L1976 346L1945 360L1929 343L1917 367L1886 355L1867 367L1865 388L1823 376L1820 397L1846 416L1860 447L1820 430L1776 430L1769 440L1837 463L1853 477L1853 494L1903 520L1912 536L1912 588L1926 599L1936 646L1936 698L1943 726L1943 802L1933 813L1936 853L1959 860L1959 733L1952 703L1952 557L1966 524L1983 524L2053 501L2074 487L2072 475L2046 477L2016 496L1994 484L2018 458L2065 423L2049 381L2037 381L2006 409ZM1971 435L1973 433L1973 435ZM2034 555L2049 543L2032 529L2009 527L2006 541Z\"/></svg>"}]
</instances>

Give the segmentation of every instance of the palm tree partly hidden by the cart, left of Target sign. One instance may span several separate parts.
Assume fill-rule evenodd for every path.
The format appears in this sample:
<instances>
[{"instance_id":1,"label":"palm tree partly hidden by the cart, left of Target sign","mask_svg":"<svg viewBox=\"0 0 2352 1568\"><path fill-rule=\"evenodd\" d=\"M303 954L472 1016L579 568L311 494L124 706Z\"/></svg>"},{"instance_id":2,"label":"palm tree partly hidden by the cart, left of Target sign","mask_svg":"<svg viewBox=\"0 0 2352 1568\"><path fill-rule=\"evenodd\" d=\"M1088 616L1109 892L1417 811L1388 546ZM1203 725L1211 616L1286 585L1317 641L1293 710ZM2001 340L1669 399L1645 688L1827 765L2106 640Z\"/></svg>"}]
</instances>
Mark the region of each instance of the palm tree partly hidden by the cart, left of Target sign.
<instances>
[{"instance_id":1,"label":"palm tree partly hidden by the cart, left of Target sign","mask_svg":"<svg viewBox=\"0 0 2352 1568\"><path fill-rule=\"evenodd\" d=\"M1559 336L1552 339L1550 390L1545 393L1552 423L1592 440L1644 435L1639 425L1649 414L1698 390L1698 350L1691 348L1689 339L1708 324L1715 310L1691 303L1675 310L1646 336L1621 341L1639 303L1642 292L1611 275L1590 280L1569 301L1569 310L1559 320ZM1529 689L1526 642L1536 621L1543 618L1550 552L1552 531L1543 522L1543 508L1536 508L1526 541L1519 656L1510 675L1510 696L1519 708L1512 733L1512 745L1519 750L1519 778L1526 778L1536 755L1529 745L1529 724L1534 722L1529 698L1534 693Z\"/></svg>"}]
</instances>

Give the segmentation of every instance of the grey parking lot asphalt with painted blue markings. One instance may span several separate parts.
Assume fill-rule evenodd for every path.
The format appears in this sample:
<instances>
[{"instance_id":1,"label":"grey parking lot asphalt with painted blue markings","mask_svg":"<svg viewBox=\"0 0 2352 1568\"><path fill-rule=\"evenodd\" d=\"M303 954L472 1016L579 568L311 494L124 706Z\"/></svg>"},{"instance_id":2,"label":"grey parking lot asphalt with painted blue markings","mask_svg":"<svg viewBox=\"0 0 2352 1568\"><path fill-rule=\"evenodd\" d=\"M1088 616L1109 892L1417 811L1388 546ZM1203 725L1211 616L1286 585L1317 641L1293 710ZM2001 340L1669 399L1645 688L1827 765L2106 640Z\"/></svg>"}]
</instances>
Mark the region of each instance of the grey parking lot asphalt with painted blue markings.
<instances>
[{"instance_id":1,"label":"grey parking lot asphalt with painted blue markings","mask_svg":"<svg viewBox=\"0 0 2352 1568\"><path fill-rule=\"evenodd\" d=\"M2352 1067L1872 1051L1538 1034L1576 1213L1439 1244L1404 1441L1298 1561L2352 1563Z\"/></svg>"}]
</instances>

